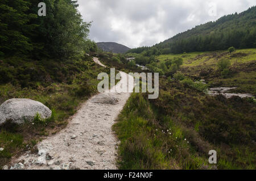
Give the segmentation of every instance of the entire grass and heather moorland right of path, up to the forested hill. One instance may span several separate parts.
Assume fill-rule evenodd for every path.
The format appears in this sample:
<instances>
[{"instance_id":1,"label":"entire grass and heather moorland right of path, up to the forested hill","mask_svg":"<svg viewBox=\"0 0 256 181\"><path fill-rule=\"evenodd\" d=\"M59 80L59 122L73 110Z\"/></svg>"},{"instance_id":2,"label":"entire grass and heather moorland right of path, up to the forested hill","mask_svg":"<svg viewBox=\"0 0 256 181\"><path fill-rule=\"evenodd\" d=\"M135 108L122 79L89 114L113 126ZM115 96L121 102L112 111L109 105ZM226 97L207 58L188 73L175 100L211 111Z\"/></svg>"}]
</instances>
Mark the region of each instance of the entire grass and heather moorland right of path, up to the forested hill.
<instances>
[{"instance_id":1,"label":"entire grass and heather moorland right of path, up to the forested hill","mask_svg":"<svg viewBox=\"0 0 256 181\"><path fill-rule=\"evenodd\" d=\"M229 62L223 70L222 60ZM119 168L255 169L255 60L255 48L157 56L146 66L164 75L159 98L133 93L113 127ZM210 96L210 87L233 89Z\"/></svg>"}]
</instances>

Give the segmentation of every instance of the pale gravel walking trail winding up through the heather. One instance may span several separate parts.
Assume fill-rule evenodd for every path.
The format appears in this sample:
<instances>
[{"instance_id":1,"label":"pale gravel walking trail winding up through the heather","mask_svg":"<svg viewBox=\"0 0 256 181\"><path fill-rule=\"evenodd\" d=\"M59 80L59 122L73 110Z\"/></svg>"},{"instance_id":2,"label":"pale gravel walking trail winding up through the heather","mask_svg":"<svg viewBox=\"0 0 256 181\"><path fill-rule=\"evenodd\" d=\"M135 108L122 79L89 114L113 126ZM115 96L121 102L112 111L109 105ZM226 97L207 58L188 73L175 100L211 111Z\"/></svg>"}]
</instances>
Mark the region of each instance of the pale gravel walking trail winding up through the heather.
<instances>
[{"instance_id":1,"label":"pale gravel walking trail winding up through the heather","mask_svg":"<svg viewBox=\"0 0 256 181\"><path fill-rule=\"evenodd\" d=\"M118 92L123 86L130 91L134 87L126 83L129 75L120 74L121 81L115 87L87 100L66 128L40 142L38 154L28 151L15 159L14 163L22 164L13 165L14 169L117 169L118 140L112 125L130 96Z\"/></svg>"}]
</instances>

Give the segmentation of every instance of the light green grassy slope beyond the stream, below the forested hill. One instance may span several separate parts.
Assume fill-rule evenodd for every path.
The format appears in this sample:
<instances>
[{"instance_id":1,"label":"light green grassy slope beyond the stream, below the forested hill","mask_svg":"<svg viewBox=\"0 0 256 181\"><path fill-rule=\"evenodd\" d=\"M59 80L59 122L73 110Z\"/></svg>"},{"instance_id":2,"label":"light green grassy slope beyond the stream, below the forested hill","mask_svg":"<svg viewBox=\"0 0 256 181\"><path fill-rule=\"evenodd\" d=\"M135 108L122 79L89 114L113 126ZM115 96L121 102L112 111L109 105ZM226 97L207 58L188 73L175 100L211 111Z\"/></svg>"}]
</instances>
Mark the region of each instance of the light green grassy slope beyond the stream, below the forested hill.
<instances>
[{"instance_id":1,"label":"light green grassy slope beyond the stream, below the forested hill","mask_svg":"<svg viewBox=\"0 0 256 181\"><path fill-rule=\"evenodd\" d=\"M183 54L164 54L156 59L158 65L174 57L183 58L180 71L193 81L205 79L210 87L228 86L238 87L232 92L248 93L256 96L256 49L237 49L229 53L228 50L214 52L192 52ZM218 61L230 61L230 67L225 69L225 75L218 70Z\"/></svg>"}]
</instances>

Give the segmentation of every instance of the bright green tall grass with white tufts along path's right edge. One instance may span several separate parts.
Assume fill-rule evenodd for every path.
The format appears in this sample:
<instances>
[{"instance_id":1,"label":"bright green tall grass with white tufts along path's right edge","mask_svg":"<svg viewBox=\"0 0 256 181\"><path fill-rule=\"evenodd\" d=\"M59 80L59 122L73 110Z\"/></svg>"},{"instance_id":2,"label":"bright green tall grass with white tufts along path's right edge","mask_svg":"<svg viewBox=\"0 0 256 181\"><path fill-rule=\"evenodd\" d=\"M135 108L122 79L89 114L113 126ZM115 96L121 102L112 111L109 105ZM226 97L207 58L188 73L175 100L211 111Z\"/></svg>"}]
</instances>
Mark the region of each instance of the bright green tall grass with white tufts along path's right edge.
<instances>
[{"instance_id":1,"label":"bright green tall grass with white tufts along path's right edge","mask_svg":"<svg viewBox=\"0 0 256 181\"><path fill-rule=\"evenodd\" d=\"M163 120L169 127L163 127L156 115L143 95L131 95L113 126L121 140L119 169L200 169L208 165L169 116Z\"/></svg>"}]
</instances>

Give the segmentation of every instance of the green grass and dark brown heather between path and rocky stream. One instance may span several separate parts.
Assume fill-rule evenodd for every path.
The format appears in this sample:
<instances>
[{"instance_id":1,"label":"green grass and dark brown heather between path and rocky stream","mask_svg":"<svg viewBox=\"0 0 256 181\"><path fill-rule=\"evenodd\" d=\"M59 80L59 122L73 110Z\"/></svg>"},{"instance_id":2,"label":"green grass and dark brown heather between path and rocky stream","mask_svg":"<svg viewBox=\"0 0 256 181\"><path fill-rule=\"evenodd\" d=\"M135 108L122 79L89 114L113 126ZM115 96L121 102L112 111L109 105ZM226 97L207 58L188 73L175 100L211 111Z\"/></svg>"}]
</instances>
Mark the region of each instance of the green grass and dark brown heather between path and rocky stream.
<instances>
[{"instance_id":1,"label":"green grass and dark brown heather between path and rocky stream","mask_svg":"<svg viewBox=\"0 0 256 181\"><path fill-rule=\"evenodd\" d=\"M255 102L167 79L159 93L133 94L113 126L119 169L255 169ZM217 165L208 163L209 150Z\"/></svg>"}]
</instances>

